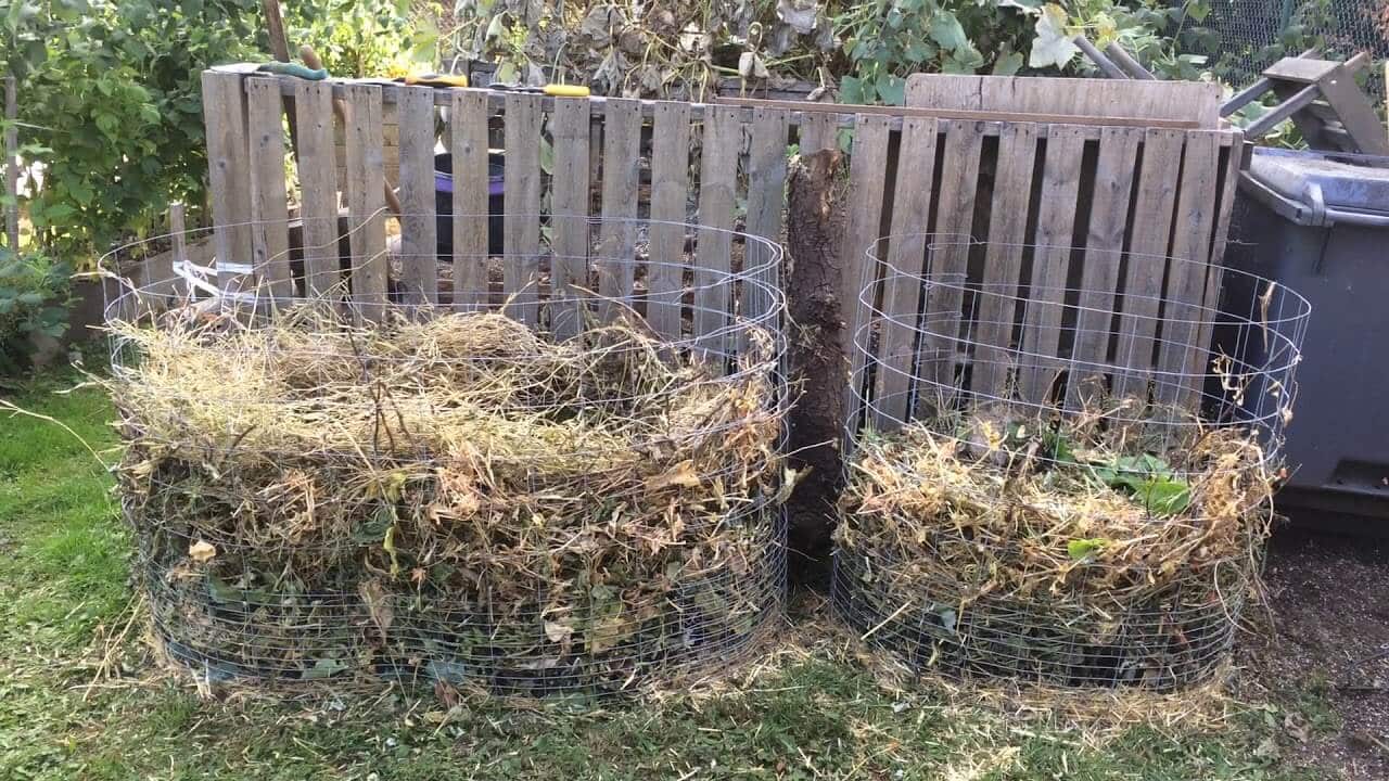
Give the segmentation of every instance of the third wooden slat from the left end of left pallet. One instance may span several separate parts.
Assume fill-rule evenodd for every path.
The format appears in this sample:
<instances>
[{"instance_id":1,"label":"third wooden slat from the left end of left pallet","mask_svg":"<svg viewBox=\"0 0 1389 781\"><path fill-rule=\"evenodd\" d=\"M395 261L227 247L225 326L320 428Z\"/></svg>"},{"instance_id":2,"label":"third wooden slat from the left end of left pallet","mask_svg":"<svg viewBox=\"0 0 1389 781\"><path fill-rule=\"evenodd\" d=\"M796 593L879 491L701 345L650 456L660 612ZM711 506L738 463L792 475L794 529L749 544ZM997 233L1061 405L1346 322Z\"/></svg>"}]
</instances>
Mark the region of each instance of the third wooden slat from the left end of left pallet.
<instances>
[{"instance_id":1,"label":"third wooden slat from the left end of left pallet","mask_svg":"<svg viewBox=\"0 0 1389 781\"><path fill-rule=\"evenodd\" d=\"M294 81L299 147L299 213L304 225L304 295L338 296L338 163L333 151L333 90L326 82Z\"/></svg>"}]
</instances>

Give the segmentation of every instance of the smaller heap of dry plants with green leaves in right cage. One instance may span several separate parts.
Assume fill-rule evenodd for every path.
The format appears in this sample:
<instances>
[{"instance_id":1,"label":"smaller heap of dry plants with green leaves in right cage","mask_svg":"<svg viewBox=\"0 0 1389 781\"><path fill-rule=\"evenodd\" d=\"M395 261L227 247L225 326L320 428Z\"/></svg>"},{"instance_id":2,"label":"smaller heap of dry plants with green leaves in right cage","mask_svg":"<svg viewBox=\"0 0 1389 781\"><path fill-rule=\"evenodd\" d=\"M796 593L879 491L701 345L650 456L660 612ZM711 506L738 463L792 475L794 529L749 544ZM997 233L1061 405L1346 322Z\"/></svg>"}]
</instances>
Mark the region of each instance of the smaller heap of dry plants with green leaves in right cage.
<instances>
[{"instance_id":1,"label":"smaller heap of dry plants with green leaves in right cage","mask_svg":"<svg viewBox=\"0 0 1389 781\"><path fill-rule=\"evenodd\" d=\"M1136 399L864 432L836 603L918 668L1170 689L1224 661L1274 470L1249 429Z\"/></svg>"}]
</instances>

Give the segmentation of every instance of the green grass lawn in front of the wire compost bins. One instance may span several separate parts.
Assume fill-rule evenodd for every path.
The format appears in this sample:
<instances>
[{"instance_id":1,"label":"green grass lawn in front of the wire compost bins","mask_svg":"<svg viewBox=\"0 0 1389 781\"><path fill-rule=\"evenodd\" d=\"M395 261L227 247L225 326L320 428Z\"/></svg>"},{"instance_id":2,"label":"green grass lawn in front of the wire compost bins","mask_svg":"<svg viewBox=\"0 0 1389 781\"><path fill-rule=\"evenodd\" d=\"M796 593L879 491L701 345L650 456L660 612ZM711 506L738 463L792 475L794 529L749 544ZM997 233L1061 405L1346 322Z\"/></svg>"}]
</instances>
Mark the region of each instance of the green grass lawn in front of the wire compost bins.
<instances>
[{"instance_id":1,"label":"green grass lawn in front of the wire compost bins","mask_svg":"<svg viewBox=\"0 0 1389 781\"><path fill-rule=\"evenodd\" d=\"M101 392L60 388L40 381L11 400L114 447ZM204 699L146 649L110 486L72 435L0 411L3 780L1324 777L1278 759L1289 718L1320 723L1314 695L1301 712L1229 705L1215 725L1099 732L1046 710L986 707L978 692L893 687L851 638L825 628L815 599L801 600L813 607L797 611L808 614L796 616L793 638L749 671L601 710L481 696L446 707L385 687Z\"/></svg>"}]
</instances>

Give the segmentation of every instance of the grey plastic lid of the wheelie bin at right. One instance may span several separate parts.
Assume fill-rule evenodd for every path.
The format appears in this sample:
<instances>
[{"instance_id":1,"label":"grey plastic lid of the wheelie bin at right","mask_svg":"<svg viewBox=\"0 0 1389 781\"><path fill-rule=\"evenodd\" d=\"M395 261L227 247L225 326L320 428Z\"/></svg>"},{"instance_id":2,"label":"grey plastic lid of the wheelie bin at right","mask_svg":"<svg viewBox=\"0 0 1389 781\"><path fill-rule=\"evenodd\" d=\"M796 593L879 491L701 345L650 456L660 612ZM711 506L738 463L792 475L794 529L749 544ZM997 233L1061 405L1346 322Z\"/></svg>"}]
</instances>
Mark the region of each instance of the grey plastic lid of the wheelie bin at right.
<instances>
[{"instance_id":1,"label":"grey plastic lid of the wheelie bin at right","mask_svg":"<svg viewBox=\"0 0 1389 781\"><path fill-rule=\"evenodd\" d=\"M1258 147L1249 175L1292 202L1303 202L1307 185L1318 185L1328 208L1389 214L1386 157Z\"/></svg>"}]
</instances>

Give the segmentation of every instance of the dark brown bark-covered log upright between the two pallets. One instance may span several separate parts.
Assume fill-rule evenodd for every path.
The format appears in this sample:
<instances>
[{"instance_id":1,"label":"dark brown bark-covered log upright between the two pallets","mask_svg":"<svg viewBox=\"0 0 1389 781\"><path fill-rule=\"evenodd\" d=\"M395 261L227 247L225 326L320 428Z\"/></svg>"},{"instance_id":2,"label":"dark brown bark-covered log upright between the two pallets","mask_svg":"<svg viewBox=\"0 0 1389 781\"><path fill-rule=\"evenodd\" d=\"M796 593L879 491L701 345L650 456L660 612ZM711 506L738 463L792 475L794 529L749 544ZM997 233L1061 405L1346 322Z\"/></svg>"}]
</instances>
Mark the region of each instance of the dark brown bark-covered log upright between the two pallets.
<instances>
[{"instance_id":1,"label":"dark brown bark-covered log upright between the two pallets","mask_svg":"<svg viewBox=\"0 0 1389 781\"><path fill-rule=\"evenodd\" d=\"M799 390L790 413L790 452L808 474L786 503L790 571L803 581L828 571L835 502L843 488L846 302L839 243L845 231L843 156L821 150L792 161L788 208L790 365Z\"/></svg>"}]
</instances>

